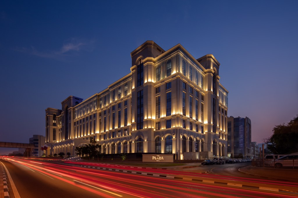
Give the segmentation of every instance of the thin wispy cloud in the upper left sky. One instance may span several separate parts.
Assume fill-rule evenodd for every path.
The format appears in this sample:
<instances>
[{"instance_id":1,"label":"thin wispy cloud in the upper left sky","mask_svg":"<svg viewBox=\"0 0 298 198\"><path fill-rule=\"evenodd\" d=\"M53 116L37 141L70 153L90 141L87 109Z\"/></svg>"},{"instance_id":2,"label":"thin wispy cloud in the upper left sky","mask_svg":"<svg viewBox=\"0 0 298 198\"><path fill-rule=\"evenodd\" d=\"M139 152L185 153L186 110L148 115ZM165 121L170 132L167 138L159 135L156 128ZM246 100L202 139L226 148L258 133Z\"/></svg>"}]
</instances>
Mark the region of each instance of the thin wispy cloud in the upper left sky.
<instances>
[{"instance_id":1,"label":"thin wispy cloud in the upper left sky","mask_svg":"<svg viewBox=\"0 0 298 198\"><path fill-rule=\"evenodd\" d=\"M79 51L93 51L94 43L95 40L82 40L72 38L66 43L64 43L59 50L55 51L42 52L37 50L34 46L31 46L30 48L16 48L15 50L43 58L62 59L65 56L75 55Z\"/></svg>"}]
</instances>

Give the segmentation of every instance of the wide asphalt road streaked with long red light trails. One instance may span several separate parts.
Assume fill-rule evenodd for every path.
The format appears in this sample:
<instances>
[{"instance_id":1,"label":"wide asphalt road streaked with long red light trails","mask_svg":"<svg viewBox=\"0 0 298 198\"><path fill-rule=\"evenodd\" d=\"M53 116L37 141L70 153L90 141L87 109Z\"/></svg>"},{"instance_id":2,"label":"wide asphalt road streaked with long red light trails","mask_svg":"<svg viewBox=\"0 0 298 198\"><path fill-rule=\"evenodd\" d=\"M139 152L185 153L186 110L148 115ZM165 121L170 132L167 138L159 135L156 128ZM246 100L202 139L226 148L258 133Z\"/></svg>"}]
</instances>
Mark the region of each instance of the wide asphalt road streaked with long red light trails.
<instances>
[{"instance_id":1,"label":"wide asphalt road streaked with long red light trails","mask_svg":"<svg viewBox=\"0 0 298 198\"><path fill-rule=\"evenodd\" d=\"M38 161L8 158L1 160L7 167L22 198L34 197L297 197L288 192L272 192L224 185L216 175L173 169L139 169L111 164L71 161ZM83 167L91 166L93 168ZM111 170L95 169L105 168ZM225 165L213 165L226 166ZM201 166L203 168L207 168ZM211 166L210 166L211 167ZM216 169L216 168L215 168ZM120 172L125 170L132 173ZM214 170L214 169L213 169ZM151 176L148 176L148 172ZM142 175L145 174L145 175ZM176 175L186 179L156 175ZM204 178L205 182L189 180ZM230 183L234 178L226 178ZM213 182L213 183L212 183ZM237 183L247 182L238 178ZM252 182L252 180L250 181ZM255 181L254 181L255 182ZM265 184L264 184L265 185ZM280 185L275 183L274 185ZM285 185L285 184L283 184ZM289 184L290 185L290 184ZM290 188L291 186L288 186ZM298 186L297 186L298 187ZM293 188L293 186L292 186ZM297 188L298 191L298 188ZM12 196L11 196L12 197Z\"/></svg>"}]
</instances>

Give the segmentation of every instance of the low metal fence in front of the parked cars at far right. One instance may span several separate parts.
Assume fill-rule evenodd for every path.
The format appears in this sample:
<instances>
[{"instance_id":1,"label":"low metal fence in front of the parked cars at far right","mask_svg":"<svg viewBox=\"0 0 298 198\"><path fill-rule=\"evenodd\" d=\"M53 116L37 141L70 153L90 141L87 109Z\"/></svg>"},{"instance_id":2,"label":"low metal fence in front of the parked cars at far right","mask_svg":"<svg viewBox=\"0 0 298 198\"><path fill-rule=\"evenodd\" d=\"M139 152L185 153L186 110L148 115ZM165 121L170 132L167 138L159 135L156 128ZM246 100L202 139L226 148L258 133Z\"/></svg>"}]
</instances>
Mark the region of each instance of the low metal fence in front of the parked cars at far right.
<instances>
[{"instance_id":1,"label":"low metal fence in front of the parked cars at far right","mask_svg":"<svg viewBox=\"0 0 298 198\"><path fill-rule=\"evenodd\" d=\"M253 159L252 166L298 169L298 159Z\"/></svg>"}]
</instances>

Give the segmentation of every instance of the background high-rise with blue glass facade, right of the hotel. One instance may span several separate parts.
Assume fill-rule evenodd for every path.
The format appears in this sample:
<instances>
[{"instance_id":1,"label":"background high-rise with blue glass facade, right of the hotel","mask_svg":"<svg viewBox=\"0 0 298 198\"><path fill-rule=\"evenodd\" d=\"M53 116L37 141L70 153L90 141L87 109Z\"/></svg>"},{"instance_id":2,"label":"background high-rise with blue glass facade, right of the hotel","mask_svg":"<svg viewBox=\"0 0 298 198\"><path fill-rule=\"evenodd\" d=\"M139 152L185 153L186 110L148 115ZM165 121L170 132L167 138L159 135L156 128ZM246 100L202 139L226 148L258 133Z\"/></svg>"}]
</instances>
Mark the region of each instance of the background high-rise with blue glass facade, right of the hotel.
<instances>
[{"instance_id":1,"label":"background high-rise with blue glass facade, right of the hotel","mask_svg":"<svg viewBox=\"0 0 298 198\"><path fill-rule=\"evenodd\" d=\"M228 117L228 154L231 158L252 158L252 126L248 117Z\"/></svg>"}]
</instances>

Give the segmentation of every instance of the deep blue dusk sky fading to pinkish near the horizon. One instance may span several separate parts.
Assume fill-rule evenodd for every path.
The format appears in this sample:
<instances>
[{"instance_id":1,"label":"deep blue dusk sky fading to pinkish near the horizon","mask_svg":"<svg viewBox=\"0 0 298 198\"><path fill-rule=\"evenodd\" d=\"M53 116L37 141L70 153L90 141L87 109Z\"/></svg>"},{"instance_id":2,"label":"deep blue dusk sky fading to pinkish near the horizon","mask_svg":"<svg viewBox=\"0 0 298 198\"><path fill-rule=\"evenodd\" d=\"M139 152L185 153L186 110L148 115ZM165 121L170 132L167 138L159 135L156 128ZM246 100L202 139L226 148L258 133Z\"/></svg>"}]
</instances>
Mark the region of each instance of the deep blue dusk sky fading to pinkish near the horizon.
<instances>
[{"instance_id":1,"label":"deep blue dusk sky fading to pinkish near the horizon","mask_svg":"<svg viewBox=\"0 0 298 198\"><path fill-rule=\"evenodd\" d=\"M298 1L0 1L0 141L45 135L47 107L105 89L130 73L130 52L153 40L164 50L180 43L196 59L213 54L228 116L249 117L252 141L261 143L298 114L297 8Z\"/></svg>"}]
</instances>

